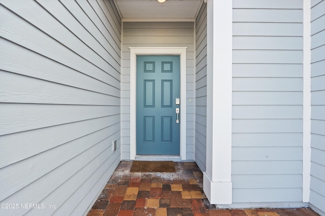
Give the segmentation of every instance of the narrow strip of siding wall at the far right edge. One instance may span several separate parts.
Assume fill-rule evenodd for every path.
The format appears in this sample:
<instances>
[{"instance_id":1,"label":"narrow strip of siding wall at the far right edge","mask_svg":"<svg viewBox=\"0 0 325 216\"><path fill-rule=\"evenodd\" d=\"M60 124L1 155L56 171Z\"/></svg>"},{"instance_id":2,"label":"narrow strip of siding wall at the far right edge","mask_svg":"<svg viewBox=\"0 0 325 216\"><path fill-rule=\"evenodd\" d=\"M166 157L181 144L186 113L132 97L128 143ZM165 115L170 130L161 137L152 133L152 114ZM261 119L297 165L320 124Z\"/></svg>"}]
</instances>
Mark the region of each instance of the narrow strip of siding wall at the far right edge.
<instances>
[{"instance_id":1,"label":"narrow strip of siding wall at the far right edge","mask_svg":"<svg viewBox=\"0 0 325 216\"><path fill-rule=\"evenodd\" d=\"M325 1L311 1L310 203L325 212ZM324 214L325 215L325 214Z\"/></svg>"}]
</instances>

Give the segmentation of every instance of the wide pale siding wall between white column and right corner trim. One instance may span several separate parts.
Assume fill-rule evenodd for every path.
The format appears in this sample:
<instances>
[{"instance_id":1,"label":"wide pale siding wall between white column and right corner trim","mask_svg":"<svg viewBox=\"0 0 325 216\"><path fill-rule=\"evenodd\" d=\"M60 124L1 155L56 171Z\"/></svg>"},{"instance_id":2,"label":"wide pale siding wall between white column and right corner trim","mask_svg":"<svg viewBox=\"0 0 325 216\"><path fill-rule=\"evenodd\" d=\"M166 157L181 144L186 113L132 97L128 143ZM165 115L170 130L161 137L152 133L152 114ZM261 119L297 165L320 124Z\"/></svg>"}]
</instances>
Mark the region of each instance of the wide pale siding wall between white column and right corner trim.
<instances>
[{"instance_id":1,"label":"wide pale siding wall between white column and right corner trim","mask_svg":"<svg viewBox=\"0 0 325 216\"><path fill-rule=\"evenodd\" d=\"M302 0L233 8L233 203L301 203Z\"/></svg>"}]
</instances>

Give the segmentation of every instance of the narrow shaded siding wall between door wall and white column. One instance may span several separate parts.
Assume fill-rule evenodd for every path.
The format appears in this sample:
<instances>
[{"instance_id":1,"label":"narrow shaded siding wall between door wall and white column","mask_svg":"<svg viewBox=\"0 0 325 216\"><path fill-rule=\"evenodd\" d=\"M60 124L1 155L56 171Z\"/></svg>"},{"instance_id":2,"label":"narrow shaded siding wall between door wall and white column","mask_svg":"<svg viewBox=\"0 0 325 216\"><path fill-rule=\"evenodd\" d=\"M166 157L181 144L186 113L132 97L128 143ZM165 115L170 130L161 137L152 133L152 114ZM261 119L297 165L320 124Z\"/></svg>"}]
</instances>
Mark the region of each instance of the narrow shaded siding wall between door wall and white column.
<instances>
[{"instance_id":1,"label":"narrow shaded siding wall between door wall and white column","mask_svg":"<svg viewBox=\"0 0 325 216\"><path fill-rule=\"evenodd\" d=\"M207 4L196 19L196 122L195 161L206 170L207 143Z\"/></svg>"}]
</instances>

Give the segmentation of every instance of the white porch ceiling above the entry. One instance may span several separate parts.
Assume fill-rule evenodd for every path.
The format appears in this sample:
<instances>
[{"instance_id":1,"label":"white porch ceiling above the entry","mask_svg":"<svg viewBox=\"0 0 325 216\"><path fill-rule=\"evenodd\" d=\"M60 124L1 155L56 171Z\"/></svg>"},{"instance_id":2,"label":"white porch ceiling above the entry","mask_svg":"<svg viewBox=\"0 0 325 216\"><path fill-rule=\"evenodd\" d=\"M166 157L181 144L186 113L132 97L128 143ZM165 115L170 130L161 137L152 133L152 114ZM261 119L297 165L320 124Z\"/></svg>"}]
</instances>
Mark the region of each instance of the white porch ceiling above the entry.
<instances>
[{"instance_id":1,"label":"white porch ceiling above the entry","mask_svg":"<svg viewBox=\"0 0 325 216\"><path fill-rule=\"evenodd\" d=\"M193 21L203 0L114 0L123 21Z\"/></svg>"}]
</instances>

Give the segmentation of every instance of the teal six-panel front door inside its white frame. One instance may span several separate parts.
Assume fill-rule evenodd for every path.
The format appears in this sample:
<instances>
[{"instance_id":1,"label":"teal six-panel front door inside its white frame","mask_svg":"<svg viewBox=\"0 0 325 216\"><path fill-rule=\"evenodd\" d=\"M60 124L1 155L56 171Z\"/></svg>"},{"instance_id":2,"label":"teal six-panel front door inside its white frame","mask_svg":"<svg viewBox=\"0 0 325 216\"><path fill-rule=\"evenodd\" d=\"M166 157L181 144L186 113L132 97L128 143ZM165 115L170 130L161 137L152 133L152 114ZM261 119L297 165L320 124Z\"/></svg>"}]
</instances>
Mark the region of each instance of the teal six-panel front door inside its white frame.
<instances>
[{"instance_id":1,"label":"teal six-panel front door inside its white frame","mask_svg":"<svg viewBox=\"0 0 325 216\"><path fill-rule=\"evenodd\" d=\"M137 56L137 154L180 155L180 57Z\"/></svg>"}]
</instances>

